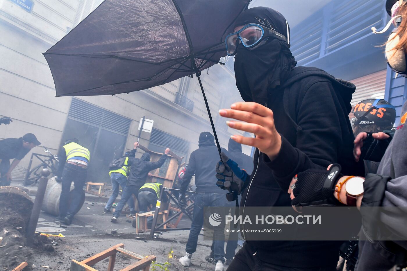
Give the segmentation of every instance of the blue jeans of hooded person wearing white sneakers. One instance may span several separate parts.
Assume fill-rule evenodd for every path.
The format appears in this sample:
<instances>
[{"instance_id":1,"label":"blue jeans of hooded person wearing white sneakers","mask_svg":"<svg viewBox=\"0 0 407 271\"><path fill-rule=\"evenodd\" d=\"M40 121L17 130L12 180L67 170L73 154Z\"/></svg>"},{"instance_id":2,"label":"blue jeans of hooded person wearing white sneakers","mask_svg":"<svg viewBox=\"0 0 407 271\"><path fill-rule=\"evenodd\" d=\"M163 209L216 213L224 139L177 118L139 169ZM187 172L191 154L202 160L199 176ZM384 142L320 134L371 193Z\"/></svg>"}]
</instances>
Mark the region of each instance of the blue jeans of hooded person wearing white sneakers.
<instances>
[{"instance_id":1,"label":"blue jeans of hooded person wearing white sneakers","mask_svg":"<svg viewBox=\"0 0 407 271\"><path fill-rule=\"evenodd\" d=\"M201 232L202 225L204 225L204 207L221 207L225 206L225 194L218 193L196 193L193 220L191 223L191 229L189 232L188 242L186 243L185 251L193 254L197 251L198 236ZM214 244L214 258L215 260L224 260L225 240L220 240L219 236L224 236L224 229L222 227L216 227L214 234L218 237L213 241Z\"/></svg>"}]
</instances>

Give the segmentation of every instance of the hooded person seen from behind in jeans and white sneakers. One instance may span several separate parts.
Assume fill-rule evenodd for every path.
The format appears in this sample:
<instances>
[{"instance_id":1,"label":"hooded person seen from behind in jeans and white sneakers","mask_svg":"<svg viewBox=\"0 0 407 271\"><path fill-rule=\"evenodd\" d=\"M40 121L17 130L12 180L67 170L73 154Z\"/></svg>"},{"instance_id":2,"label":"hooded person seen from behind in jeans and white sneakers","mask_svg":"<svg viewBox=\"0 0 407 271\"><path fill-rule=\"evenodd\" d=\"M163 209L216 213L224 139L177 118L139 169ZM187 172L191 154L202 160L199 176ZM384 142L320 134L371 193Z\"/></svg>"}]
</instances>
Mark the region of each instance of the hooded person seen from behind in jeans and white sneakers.
<instances>
[{"instance_id":1,"label":"hooded person seen from behind in jeans and white sneakers","mask_svg":"<svg viewBox=\"0 0 407 271\"><path fill-rule=\"evenodd\" d=\"M216 186L215 168L219 160L218 149L214 142L214 136L210 132L202 132L199 135L199 148L193 151L189 157L188 168L181 180L178 201L181 208L185 208L185 193L193 175L195 175L195 205L193 211L193 221L186 243L186 255L179 258L179 262L184 267L189 267L192 254L197 250L198 236L204 223L204 206L220 207L225 206L225 191ZM226 151L222 148L222 151ZM216 271L223 271L225 261L225 250L223 228L214 229L215 240L213 241L213 256L216 260Z\"/></svg>"}]
</instances>

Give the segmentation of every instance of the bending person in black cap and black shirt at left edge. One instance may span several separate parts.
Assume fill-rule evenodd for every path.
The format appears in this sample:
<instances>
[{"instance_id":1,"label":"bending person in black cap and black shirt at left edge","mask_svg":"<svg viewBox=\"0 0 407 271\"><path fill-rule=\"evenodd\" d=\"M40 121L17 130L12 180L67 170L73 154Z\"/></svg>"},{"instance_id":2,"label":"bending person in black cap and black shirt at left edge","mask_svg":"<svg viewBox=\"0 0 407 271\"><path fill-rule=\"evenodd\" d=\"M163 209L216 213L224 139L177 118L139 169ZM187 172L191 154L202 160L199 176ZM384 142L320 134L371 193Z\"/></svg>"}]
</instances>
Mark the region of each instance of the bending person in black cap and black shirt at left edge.
<instances>
[{"instance_id":1,"label":"bending person in black cap and black shirt at left edge","mask_svg":"<svg viewBox=\"0 0 407 271\"><path fill-rule=\"evenodd\" d=\"M41 142L32 133L26 133L22 138L6 138L0 140L0 186L9 186L11 172L24 156ZM14 159L10 165L10 159Z\"/></svg>"}]
</instances>

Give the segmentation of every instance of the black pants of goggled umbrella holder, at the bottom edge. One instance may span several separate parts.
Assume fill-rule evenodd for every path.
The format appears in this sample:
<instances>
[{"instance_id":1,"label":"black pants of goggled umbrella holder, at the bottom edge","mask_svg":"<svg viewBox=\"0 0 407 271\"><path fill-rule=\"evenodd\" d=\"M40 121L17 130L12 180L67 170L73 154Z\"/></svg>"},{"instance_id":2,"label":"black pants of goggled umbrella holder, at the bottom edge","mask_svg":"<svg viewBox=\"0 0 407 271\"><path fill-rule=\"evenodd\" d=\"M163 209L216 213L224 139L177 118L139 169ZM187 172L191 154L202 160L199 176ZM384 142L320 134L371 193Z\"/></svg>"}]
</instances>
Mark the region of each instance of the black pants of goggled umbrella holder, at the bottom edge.
<instances>
[{"instance_id":1,"label":"black pants of goggled umbrella holder, at the bottom edge","mask_svg":"<svg viewBox=\"0 0 407 271\"><path fill-rule=\"evenodd\" d=\"M249 246L244 243L243 247L236 253L232 263L226 271L334 271L336 264L332 267L284 267L281 265L263 262L256 258L256 251L249 249ZM315 259L317 261L318 259ZM289 264L289 263L287 263Z\"/></svg>"}]
</instances>

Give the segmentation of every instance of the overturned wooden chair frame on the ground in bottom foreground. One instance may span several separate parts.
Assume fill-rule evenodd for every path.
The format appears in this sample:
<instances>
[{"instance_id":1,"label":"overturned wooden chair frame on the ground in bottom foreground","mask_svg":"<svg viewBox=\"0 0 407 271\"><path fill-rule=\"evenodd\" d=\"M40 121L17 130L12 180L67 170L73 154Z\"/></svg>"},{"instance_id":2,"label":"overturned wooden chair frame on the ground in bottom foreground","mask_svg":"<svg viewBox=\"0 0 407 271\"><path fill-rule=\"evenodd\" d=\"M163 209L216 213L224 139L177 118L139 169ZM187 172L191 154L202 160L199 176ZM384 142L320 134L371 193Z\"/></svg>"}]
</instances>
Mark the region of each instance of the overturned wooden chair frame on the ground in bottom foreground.
<instances>
[{"instance_id":1,"label":"overturned wooden chair frame on the ground in bottom foreground","mask_svg":"<svg viewBox=\"0 0 407 271\"><path fill-rule=\"evenodd\" d=\"M81 262L78 262L77 260L72 260L71 261L71 267L70 271L98 271L94 268L92 268L92 265L96 264L97 262L100 262L101 260L104 260L108 257L109 259L109 266L107 267L107 271L113 271L114 270L114 264L116 262L116 254L121 253L125 256L129 256L130 258L138 260L137 262L129 265L126 268L120 269L120 271L149 271L150 270L150 264L151 262L155 261L156 257L154 255L148 255L146 257L143 257L141 255L138 255L134 252L128 251L124 249L125 245L124 244L118 244L115 245L109 249L106 249L105 251L102 251L101 253L98 253L92 257L89 257L88 259L85 259Z\"/></svg>"}]
</instances>

